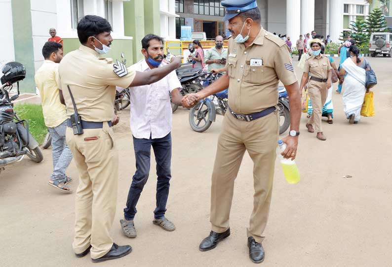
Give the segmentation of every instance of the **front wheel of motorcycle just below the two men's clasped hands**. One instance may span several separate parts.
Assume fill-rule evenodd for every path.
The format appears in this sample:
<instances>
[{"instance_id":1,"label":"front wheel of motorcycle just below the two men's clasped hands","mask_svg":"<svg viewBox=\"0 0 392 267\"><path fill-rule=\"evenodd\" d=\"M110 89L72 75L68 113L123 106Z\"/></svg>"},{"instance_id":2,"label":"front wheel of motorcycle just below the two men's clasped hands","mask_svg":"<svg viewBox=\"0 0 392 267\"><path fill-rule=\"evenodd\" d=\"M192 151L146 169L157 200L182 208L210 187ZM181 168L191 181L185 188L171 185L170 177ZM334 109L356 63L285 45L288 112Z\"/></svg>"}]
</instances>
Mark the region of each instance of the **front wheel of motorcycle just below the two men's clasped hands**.
<instances>
[{"instance_id":1,"label":"front wheel of motorcycle just below the two men's clasped hands","mask_svg":"<svg viewBox=\"0 0 392 267\"><path fill-rule=\"evenodd\" d=\"M200 108L201 105L201 108ZM197 133L206 131L211 126L210 121L210 108L214 108L211 101L202 101L189 111L189 124L192 130Z\"/></svg>"}]
</instances>

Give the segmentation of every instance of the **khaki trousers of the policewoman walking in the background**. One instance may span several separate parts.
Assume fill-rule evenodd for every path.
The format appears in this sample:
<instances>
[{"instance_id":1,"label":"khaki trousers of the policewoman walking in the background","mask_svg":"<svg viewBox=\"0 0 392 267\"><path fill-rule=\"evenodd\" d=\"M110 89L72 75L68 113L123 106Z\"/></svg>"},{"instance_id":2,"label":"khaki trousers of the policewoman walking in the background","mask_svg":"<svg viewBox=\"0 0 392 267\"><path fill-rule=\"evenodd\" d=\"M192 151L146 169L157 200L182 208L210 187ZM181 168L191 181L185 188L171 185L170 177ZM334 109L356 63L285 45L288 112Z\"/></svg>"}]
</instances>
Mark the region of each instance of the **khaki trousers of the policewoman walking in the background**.
<instances>
[{"instance_id":1,"label":"khaki trousers of the policewoman walking in the background","mask_svg":"<svg viewBox=\"0 0 392 267\"><path fill-rule=\"evenodd\" d=\"M310 80L308 83L308 94L312 101L313 107L313 112L308 119L308 124L314 126L314 130L316 133L321 133L322 107L324 106L325 100L327 100L328 96L327 83Z\"/></svg>"}]
</instances>

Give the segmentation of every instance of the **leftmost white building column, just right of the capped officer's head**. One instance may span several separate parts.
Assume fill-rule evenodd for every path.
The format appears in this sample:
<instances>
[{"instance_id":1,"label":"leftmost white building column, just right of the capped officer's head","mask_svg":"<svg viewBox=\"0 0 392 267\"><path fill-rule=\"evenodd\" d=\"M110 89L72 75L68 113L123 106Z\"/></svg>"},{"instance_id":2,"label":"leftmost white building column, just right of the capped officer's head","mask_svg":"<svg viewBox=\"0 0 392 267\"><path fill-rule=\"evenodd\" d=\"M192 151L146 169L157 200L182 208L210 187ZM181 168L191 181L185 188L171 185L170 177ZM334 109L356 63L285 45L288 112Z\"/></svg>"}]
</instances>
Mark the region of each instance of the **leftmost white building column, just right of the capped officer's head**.
<instances>
[{"instance_id":1,"label":"leftmost white building column, just right of the capped officer's head","mask_svg":"<svg viewBox=\"0 0 392 267\"><path fill-rule=\"evenodd\" d=\"M286 0L286 34L295 42L301 34L301 3Z\"/></svg>"}]
</instances>

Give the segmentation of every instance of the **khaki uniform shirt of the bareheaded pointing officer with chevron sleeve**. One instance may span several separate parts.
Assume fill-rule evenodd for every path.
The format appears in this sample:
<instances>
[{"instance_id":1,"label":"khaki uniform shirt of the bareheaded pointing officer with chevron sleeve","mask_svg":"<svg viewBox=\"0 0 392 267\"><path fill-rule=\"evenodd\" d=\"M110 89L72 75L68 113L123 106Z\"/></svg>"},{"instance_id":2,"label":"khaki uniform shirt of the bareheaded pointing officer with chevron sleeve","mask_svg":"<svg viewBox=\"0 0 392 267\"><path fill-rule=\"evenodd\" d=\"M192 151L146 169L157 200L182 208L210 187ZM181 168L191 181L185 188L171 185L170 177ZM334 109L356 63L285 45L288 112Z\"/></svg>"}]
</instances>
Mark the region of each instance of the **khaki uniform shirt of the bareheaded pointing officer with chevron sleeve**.
<instances>
[{"instance_id":1,"label":"khaki uniform shirt of the bareheaded pointing officer with chevron sleeve","mask_svg":"<svg viewBox=\"0 0 392 267\"><path fill-rule=\"evenodd\" d=\"M136 75L136 71L127 68L128 74L119 77L114 72L112 59L98 56L95 50L80 45L78 50L68 53L60 63L59 80L68 117L75 111L67 85L70 86L82 120L111 121L115 115L116 86L127 88Z\"/></svg>"}]
</instances>

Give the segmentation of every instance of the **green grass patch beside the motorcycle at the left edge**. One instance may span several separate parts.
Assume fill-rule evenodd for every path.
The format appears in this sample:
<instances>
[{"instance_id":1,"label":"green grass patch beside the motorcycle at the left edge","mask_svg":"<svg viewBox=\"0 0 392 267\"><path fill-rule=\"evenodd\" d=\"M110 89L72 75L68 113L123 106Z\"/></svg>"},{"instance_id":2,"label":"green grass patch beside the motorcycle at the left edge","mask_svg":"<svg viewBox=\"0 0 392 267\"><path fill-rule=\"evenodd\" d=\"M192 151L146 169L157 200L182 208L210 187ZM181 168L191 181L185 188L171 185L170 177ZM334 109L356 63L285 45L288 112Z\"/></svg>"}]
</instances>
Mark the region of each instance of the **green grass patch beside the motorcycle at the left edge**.
<instances>
[{"instance_id":1,"label":"green grass patch beside the motorcycle at the left edge","mask_svg":"<svg viewBox=\"0 0 392 267\"><path fill-rule=\"evenodd\" d=\"M33 134L39 144L42 144L47 133L43 120L42 106L38 104L23 103L15 104L15 111L21 120L29 122L29 131Z\"/></svg>"}]
</instances>

